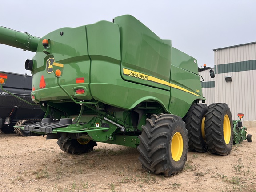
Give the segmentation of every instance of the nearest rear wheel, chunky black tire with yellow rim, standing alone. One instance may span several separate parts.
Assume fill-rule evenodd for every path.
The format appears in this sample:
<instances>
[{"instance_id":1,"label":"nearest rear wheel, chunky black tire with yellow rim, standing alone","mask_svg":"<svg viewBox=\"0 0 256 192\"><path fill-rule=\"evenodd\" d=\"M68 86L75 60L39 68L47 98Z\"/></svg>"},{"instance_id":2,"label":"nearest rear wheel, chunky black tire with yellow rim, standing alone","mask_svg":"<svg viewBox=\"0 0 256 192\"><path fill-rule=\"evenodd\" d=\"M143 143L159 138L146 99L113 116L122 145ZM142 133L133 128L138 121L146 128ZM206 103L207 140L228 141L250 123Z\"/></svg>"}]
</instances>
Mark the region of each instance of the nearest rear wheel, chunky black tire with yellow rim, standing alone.
<instances>
[{"instance_id":1,"label":"nearest rear wheel, chunky black tire with yellow rim, standing alone","mask_svg":"<svg viewBox=\"0 0 256 192\"><path fill-rule=\"evenodd\" d=\"M182 118L171 114L152 115L139 136L139 160L155 174L171 176L184 168L188 153L188 131Z\"/></svg>"}]
</instances>

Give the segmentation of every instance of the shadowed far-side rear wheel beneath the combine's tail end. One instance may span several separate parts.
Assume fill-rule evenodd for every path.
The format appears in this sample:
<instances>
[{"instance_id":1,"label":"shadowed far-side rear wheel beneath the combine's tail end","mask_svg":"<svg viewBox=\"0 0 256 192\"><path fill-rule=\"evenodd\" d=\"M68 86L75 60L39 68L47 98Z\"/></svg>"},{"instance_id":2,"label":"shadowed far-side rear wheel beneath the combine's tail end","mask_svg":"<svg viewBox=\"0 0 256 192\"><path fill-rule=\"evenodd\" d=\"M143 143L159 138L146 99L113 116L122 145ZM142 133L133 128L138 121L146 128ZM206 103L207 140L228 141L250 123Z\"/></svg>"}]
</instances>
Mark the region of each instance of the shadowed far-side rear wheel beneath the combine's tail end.
<instances>
[{"instance_id":1,"label":"shadowed far-side rear wheel beneath the combine's tail end","mask_svg":"<svg viewBox=\"0 0 256 192\"><path fill-rule=\"evenodd\" d=\"M71 154L91 152L93 147L97 146L93 140L71 139L70 137L59 138L57 144L62 151Z\"/></svg>"}]
</instances>

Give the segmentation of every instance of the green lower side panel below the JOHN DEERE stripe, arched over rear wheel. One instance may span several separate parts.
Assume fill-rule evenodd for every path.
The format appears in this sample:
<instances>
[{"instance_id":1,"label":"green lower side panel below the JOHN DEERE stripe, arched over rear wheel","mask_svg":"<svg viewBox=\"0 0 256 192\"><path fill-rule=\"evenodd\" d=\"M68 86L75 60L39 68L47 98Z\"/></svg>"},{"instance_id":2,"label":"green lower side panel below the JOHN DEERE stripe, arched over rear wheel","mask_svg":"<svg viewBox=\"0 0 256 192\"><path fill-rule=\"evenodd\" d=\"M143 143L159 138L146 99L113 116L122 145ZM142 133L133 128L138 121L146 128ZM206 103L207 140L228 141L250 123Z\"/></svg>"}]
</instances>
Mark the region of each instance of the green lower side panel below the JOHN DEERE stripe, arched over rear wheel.
<instances>
[{"instance_id":1,"label":"green lower side panel below the JOHN DEERE stripe, arched over rear wheel","mask_svg":"<svg viewBox=\"0 0 256 192\"><path fill-rule=\"evenodd\" d=\"M124 81L120 65L97 61L92 65L91 72L97 74L91 76L93 83L90 84L94 99L124 109L132 109L140 102L152 100L162 104L167 111L169 91Z\"/></svg>"}]
</instances>

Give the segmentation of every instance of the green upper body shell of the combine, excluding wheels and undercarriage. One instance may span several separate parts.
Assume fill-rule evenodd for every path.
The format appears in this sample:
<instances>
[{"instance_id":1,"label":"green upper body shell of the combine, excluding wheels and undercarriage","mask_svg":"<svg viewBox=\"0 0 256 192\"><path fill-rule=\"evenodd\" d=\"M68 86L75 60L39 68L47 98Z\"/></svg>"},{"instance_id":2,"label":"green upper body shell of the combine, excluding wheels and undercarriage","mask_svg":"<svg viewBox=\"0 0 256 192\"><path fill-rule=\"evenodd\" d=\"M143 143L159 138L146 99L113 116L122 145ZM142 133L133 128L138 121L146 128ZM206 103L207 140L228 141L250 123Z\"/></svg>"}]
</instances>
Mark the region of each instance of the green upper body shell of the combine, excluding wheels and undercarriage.
<instances>
[{"instance_id":1,"label":"green upper body shell of the combine, excluding wheels and undercarriage","mask_svg":"<svg viewBox=\"0 0 256 192\"><path fill-rule=\"evenodd\" d=\"M98 100L126 110L152 100L165 112L184 116L186 110L177 105L188 110L203 98L197 61L172 48L170 40L161 40L132 16L117 17L115 23L61 28L43 39L49 40L49 48L39 46L33 58L32 86L37 103L68 99L57 85L53 62L63 65L61 85L72 97L77 97L74 87L86 88L81 100ZM40 88L41 79L45 88Z\"/></svg>"}]
</instances>

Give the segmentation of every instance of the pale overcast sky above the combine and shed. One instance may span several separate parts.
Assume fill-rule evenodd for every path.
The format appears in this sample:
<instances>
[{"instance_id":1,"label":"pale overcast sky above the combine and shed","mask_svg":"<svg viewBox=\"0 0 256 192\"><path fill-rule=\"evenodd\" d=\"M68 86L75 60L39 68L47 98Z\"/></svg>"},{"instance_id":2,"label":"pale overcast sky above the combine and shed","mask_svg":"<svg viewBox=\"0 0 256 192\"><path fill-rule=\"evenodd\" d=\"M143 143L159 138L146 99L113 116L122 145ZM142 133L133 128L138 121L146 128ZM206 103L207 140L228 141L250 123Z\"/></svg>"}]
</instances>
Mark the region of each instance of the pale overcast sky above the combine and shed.
<instances>
[{"instance_id":1,"label":"pale overcast sky above the combine and shed","mask_svg":"<svg viewBox=\"0 0 256 192\"><path fill-rule=\"evenodd\" d=\"M213 49L256 41L255 8L256 0L5 0L0 26L43 37L129 14L161 39L171 39L199 67L213 67ZM34 55L0 44L0 71L31 75L24 63Z\"/></svg>"}]
</instances>

